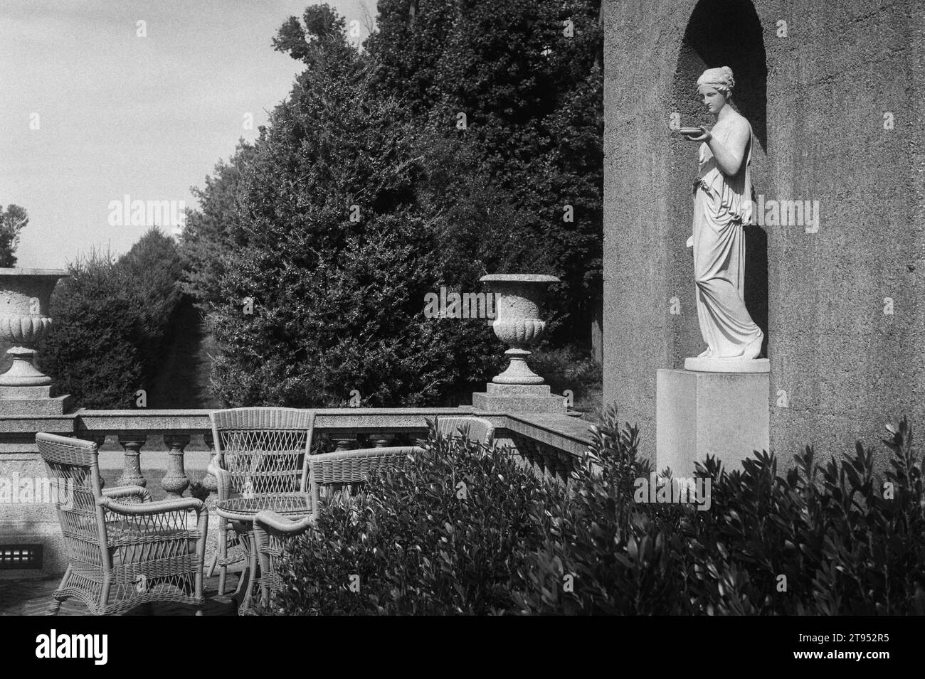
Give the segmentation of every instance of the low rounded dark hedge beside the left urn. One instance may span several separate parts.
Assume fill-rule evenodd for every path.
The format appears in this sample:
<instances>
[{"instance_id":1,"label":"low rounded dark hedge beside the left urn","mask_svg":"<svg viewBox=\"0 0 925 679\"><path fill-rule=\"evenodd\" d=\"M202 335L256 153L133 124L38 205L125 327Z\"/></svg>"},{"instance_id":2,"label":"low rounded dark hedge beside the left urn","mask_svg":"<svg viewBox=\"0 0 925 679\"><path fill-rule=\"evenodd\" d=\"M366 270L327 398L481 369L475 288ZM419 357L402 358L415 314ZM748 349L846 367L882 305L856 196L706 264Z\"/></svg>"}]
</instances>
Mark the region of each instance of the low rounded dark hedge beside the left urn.
<instances>
[{"instance_id":1,"label":"low rounded dark hedge beside the left urn","mask_svg":"<svg viewBox=\"0 0 925 679\"><path fill-rule=\"evenodd\" d=\"M180 272L174 241L157 229L118 259L94 252L70 264L52 296L54 331L38 355L58 392L83 407L135 406L136 392L153 388L181 299Z\"/></svg>"}]
</instances>

